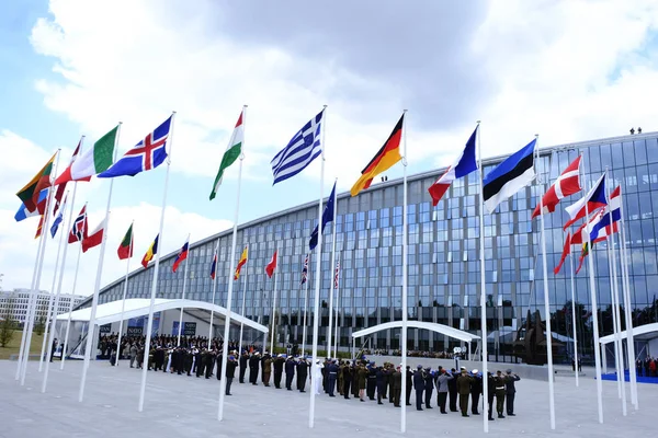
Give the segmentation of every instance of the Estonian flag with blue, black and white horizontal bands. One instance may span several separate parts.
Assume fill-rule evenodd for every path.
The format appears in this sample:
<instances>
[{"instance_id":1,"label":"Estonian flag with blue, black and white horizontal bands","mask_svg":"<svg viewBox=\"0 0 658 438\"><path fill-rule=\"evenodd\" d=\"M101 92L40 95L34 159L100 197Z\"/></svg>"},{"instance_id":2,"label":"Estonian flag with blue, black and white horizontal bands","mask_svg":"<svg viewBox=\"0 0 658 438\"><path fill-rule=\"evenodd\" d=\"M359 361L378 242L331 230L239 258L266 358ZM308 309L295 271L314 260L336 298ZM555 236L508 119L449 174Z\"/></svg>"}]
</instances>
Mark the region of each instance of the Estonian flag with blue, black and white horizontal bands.
<instances>
[{"instance_id":1,"label":"Estonian flag with blue, black and white horizontal bands","mask_svg":"<svg viewBox=\"0 0 658 438\"><path fill-rule=\"evenodd\" d=\"M530 184L534 177L534 148L537 140L498 164L484 180L483 194L489 214L504 199Z\"/></svg>"}]
</instances>

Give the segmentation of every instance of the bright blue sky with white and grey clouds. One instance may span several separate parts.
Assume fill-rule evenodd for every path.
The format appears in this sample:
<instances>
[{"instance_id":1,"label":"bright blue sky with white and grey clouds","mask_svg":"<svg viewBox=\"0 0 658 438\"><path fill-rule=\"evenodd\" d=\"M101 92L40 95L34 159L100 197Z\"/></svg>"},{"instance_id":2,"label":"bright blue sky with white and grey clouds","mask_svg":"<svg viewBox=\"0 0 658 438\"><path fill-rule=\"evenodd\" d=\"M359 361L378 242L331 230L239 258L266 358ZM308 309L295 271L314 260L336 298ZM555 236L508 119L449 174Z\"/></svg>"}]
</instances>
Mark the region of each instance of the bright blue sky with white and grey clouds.
<instances>
[{"instance_id":1,"label":"bright blue sky with white and grey clouds","mask_svg":"<svg viewBox=\"0 0 658 438\"><path fill-rule=\"evenodd\" d=\"M658 130L656 83L654 0L0 2L1 287L29 288L37 251L38 220L14 221L15 193L56 150L64 165L82 135L89 147L118 122L123 153L177 112L164 254L232 226L237 166L208 195L242 105L238 223L317 199L319 160L275 186L270 160L322 105L328 194L334 178L352 186L404 110L413 174L450 165L476 120L484 158L535 134L542 147ZM133 267L158 233L164 176L114 180L100 286L125 273L116 247L131 222ZM92 229L110 186L78 184L72 209L88 203ZM57 238L43 290L56 288ZM71 245L63 292L77 255ZM76 293L93 292L99 256L82 255Z\"/></svg>"}]
</instances>

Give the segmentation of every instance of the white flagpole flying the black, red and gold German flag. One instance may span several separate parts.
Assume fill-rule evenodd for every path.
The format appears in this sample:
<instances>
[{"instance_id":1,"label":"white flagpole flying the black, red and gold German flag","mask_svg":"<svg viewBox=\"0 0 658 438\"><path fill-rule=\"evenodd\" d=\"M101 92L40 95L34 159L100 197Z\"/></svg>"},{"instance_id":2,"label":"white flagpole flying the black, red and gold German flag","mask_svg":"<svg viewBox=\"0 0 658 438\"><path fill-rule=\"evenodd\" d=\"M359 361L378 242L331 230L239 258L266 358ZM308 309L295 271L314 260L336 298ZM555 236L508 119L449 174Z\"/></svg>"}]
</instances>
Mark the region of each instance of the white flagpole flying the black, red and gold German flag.
<instances>
[{"instance_id":1,"label":"white flagpole flying the black, red and gold German flag","mask_svg":"<svg viewBox=\"0 0 658 438\"><path fill-rule=\"evenodd\" d=\"M401 327L401 336L400 349L402 351L402 388L400 394L402 397L407 394L407 318L408 318L408 309L407 309L407 297L408 297L408 284L407 284L407 258L409 249L407 247L407 234L408 234L408 218L407 218L407 110L402 112L405 119L402 120L402 193L404 193L404 204L402 204L402 327ZM405 400L405 399L402 399ZM400 410L400 431L404 434L407 431L407 403L401 405Z\"/></svg>"}]
</instances>

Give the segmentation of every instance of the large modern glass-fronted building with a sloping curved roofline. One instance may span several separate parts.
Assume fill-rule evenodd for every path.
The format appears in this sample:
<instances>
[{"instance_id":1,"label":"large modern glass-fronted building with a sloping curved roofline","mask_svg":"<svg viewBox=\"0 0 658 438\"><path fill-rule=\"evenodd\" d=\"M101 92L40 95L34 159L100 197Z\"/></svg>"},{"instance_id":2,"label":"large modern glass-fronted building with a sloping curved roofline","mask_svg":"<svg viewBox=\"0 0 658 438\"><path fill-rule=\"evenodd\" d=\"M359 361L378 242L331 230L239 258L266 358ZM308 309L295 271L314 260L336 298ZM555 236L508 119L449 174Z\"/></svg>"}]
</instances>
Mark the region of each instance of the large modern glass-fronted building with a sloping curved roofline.
<instances>
[{"instance_id":1,"label":"large modern glass-fronted building with a sloping curved roofline","mask_svg":"<svg viewBox=\"0 0 658 438\"><path fill-rule=\"evenodd\" d=\"M521 145L520 145L521 146ZM485 153L491 150L485 149ZM480 290L479 239L485 239L486 293L488 341L492 354L509 355L518 327L529 311L544 312L543 265L540 244L540 221L531 220L532 211L551 184L574 159L582 154L587 187L591 187L602 172L609 172L609 186L621 185L629 252L631 293L635 324L658 320L656 292L658 264L656 230L658 218L658 132L629 135L571 145L543 148L540 151L536 183L503 201L494 215L485 215L480 230L478 174L455 181L449 193L432 207L428 187L445 170L409 177L409 258L408 315L420 321L438 322L479 333ZM490 171L506 157L485 161ZM612 184L610 184L612 183ZM567 220L564 207L581 195L564 199L557 210L545 217L548 258L548 297L553 330L565 344L565 356L571 343L571 288L569 261L558 275L553 274L565 241L561 226ZM655 205L654 205L655 204ZM279 343L300 342L306 290L300 285L308 238L318 217L317 203L280 211L238 228L236 257L249 246L249 263L239 283L236 283L232 310L241 313L245 297L248 318L268 324L271 316L274 280L266 277L264 266L275 250L279 251L279 298L276 327ZM338 195L337 262L340 262L339 325L340 345L351 345L351 333L363 327L401 319L402 273L402 182L382 178L373 186L351 197ZM331 260L331 227L322 241L320 344L326 342L329 316L329 292L334 267ZM572 230L574 231L574 230ZM216 303L226 306L231 233L226 231L208 237L190 247L186 297L209 301L213 284L209 266L218 244ZM619 241L615 249L619 249ZM608 245L594 246L597 293L601 334L611 333L611 276L609 275ZM580 249L574 247L574 263L578 264ZM315 253L309 264L308 309L306 324L313 326ZM183 269L171 273L175 254L161 258L162 268L157 285L158 298L180 298ZM617 256L617 263L620 257ZM148 298L152 267L139 268L129 276L127 296ZM592 354L592 313L588 281L588 264L575 277L576 313L579 349L585 360ZM123 278L102 289L100 302L120 300ZM334 301L336 304L337 300ZM83 306L89 306L88 300ZM171 332L171 330L169 331ZM163 333L169 333L163 328ZM399 348L399 330L379 332L371 339L372 348ZM426 331L411 330L409 349L452 350L452 341ZM503 356L504 358L504 356Z\"/></svg>"}]
</instances>

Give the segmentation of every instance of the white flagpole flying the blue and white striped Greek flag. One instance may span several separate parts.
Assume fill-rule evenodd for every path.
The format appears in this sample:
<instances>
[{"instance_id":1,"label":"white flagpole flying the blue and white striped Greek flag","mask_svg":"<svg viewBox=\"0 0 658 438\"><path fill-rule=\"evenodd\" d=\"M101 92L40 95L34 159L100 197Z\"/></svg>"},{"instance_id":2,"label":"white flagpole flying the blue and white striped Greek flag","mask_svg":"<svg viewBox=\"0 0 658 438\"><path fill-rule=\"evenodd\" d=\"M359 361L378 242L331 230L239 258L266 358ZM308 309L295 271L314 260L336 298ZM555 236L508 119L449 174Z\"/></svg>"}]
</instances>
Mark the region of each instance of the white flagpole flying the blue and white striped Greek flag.
<instances>
[{"instance_id":1,"label":"white flagpole flying the blue and white striped Greek flag","mask_svg":"<svg viewBox=\"0 0 658 438\"><path fill-rule=\"evenodd\" d=\"M322 268L322 200L324 200L324 185L325 185L325 148L327 143L325 142L326 134L327 134L327 105L322 110L322 125L320 128L322 129L322 154L320 157L320 199L318 201L318 245L317 253L318 260L316 262L316 284L315 284L315 302L314 302L314 314L313 314L313 348L311 348L311 370L315 370L316 361L318 360L318 323L319 323L319 312L320 312L320 280L321 280L321 268ZM308 272L307 272L308 275ZM308 281L308 280L307 280ZM306 326L304 326L306 330ZM314 383L315 384L315 383ZM315 422L315 390L311 389L308 391L310 403L308 406L308 427L313 429Z\"/></svg>"}]
</instances>

